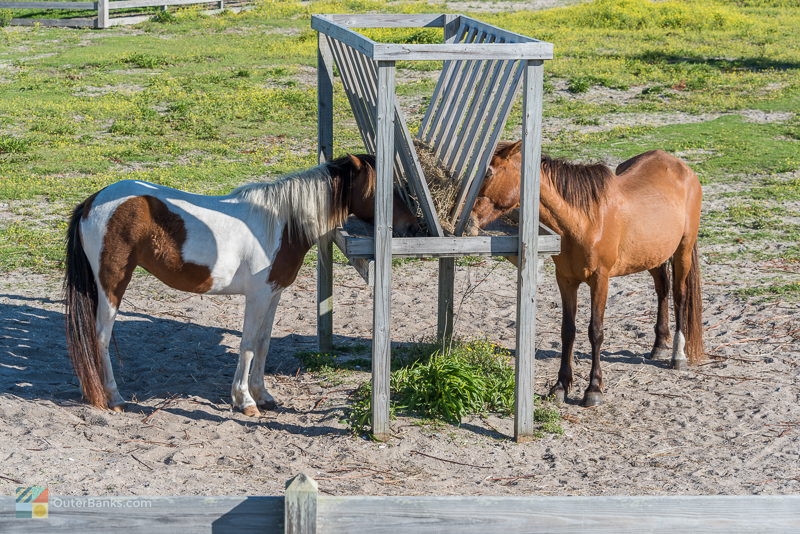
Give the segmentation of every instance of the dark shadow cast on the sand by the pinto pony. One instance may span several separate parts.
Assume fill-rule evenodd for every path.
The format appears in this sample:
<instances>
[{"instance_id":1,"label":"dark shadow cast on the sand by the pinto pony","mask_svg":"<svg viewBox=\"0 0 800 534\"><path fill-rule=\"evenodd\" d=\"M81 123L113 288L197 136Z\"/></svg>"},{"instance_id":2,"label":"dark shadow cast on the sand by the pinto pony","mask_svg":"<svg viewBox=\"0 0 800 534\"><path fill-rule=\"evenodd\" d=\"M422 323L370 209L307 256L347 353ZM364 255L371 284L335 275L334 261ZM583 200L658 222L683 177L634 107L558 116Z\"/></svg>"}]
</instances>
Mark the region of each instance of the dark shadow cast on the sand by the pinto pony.
<instances>
[{"instance_id":1,"label":"dark shadow cast on the sand by the pinto pony","mask_svg":"<svg viewBox=\"0 0 800 534\"><path fill-rule=\"evenodd\" d=\"M64 406L81 404L80 384L66 351L64 314L57 311L63 303L10 294L0 294L0 298L12 301L0 303L0 394ZM165 406L163 411L218 423L233 419L303 435L344 432L311 423L256 420L232 412L229 393L238 361L238 330L134 311L120 311L119 319L111 344L112 365L123 397L129 399L129 411L150 414L157 408L148 400L177 394L191 397L198 409ZM294 375L300 364L293 354L315 347L315 342L311 336L296 334L273 338L267 374ZM363 344L364 340L336 336L335 342ZM278 406L276 411L294 410ZM317 409L309 414L325 415L326 411Z\"/></svg>"}]
</instances>

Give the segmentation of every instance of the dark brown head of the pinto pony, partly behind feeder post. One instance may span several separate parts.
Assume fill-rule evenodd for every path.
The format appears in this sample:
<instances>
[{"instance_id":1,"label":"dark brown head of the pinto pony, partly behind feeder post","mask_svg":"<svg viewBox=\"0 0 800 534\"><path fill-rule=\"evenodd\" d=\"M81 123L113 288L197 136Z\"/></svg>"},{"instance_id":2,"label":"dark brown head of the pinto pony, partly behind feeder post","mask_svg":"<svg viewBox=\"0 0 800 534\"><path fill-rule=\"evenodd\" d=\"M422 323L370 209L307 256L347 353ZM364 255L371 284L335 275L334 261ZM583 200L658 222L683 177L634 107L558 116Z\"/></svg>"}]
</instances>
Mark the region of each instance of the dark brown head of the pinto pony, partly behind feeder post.
<instances>
[{"instance_id":1,"label":"dark brown head of the pinto pony, partly behind feeder post","mask_svg":"<svg viewBox=\"0 0 800 534\"><path fill-rule=\"evenodd\" d=\"M349 213L372 223L375 219L375 157L368 154L350 155ZM408 209L397 190L392 202L392 232L398 236L415 236L422 233L417 218Z\"/></svg>"}]
</instances>

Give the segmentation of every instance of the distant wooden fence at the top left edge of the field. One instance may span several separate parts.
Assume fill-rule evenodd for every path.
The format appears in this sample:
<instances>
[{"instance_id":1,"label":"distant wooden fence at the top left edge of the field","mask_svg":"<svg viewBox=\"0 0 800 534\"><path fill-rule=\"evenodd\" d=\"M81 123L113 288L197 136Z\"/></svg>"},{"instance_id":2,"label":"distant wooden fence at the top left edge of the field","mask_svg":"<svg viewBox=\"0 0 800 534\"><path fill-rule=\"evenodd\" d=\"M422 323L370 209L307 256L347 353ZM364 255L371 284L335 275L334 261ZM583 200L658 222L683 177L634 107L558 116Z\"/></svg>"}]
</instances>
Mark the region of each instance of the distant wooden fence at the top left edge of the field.
<instances>
[{"instance_id":1,"label":"distant wooden fence at the top left edge of the field","mask_svg":"<svg viewBox=\"0 0 800 534\"><path fill-rule=\"evenodd\" d=\"M131 10L143 7L160 7L166 9L169 6L182 6L189 4L211 4L215 9L209 9L205 13L218 13L224 9L240 11L242 6L231 7L226 4L226 0L97 0L96 2L41 2L41 1L0 1L0 9L39 9L39 10L86 10L94 11L96 15L85 17L71 17L62 19L48 18L12 18L11 24L17 26L61 26L69 28L110 28L111 26L121 26L127 24L138 24L150 19L150 14L125 14L122 16L111 17L112 11ZM238 2L237 2L238 4Z\"/></svg>"}]
</instances>

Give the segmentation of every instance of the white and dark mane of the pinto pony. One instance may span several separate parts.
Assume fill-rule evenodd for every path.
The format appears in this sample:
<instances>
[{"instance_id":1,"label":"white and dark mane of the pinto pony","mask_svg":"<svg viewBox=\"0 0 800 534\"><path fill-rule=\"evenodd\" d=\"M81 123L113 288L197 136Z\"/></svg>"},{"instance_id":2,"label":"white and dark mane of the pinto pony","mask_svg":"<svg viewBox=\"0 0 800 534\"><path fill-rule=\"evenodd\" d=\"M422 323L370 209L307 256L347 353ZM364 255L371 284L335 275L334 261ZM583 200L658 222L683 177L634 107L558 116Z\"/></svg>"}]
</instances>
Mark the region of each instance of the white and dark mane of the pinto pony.
<instances>
[{"instance_id":1,"label":"white and dark mane of the pinto pony","mask_svg":"<svg viewBox=\"0 0 800 534\"><path fill-rule=\"evenodd\" d=\"M357 157L375 168L372 156ZM355 171L353 161L345 156L288 174L275 182L243 185L231 195L251 204L254 212L263 217L268 232L275 230L275 224L288 224L290 236L316 243L320 236L347 219ZM365 196L370 193L364 192Z\"/></svg>"}]
</instances>

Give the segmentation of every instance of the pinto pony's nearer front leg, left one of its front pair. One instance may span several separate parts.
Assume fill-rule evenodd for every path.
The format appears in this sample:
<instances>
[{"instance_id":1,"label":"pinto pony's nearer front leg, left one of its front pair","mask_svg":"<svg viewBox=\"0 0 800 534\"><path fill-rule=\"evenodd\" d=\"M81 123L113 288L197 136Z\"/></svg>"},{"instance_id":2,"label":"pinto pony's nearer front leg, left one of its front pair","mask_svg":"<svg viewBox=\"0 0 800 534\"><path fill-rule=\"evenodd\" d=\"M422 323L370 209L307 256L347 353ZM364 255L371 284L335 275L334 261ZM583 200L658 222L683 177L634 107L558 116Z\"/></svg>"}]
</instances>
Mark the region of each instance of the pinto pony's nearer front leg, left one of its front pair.
<instances>
[{"instance_id":1,"label":"pinto pony's nearer front leg, left one of its front pair","mask_svg":"<svg viewBox=\"0 0 800 534\"><path fill-rule=\"evenodd\" d=\"M264 317L267 314L271 299L271 290L248 293L245 296L244 327L242 328L242 342L239 346L239 363L236 365L236 374L231 385L233 407L245 415L261 415L256 407L256 401L250 395L248 387L250 364L258 350L261 329Z\"/></svg>"}]
</instances>

